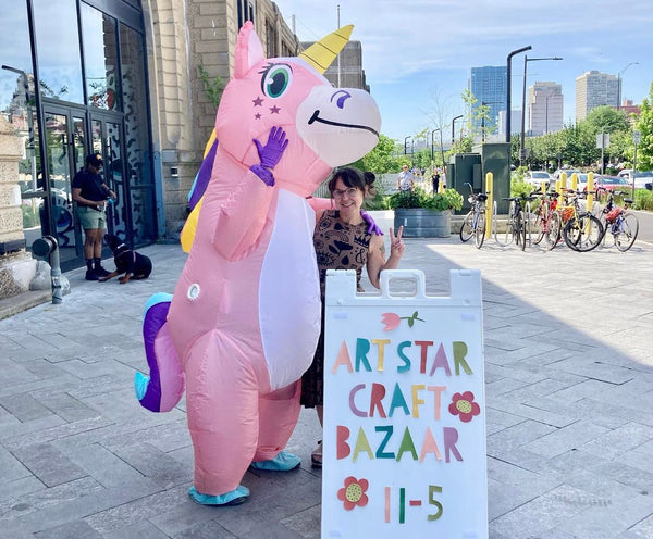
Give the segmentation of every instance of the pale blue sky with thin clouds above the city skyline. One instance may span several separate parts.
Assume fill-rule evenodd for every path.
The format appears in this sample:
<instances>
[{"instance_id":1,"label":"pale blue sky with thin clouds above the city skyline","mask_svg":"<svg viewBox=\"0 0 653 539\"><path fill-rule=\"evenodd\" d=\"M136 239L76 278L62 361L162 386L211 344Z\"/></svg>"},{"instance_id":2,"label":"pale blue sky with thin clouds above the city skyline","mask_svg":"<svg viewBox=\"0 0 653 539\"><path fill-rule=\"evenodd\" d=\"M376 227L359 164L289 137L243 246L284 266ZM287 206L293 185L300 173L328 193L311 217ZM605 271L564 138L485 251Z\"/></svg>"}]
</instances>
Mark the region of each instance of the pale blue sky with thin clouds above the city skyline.
<instances>
[{"instance_id":1,"label":"pale blue sky with thin clouds above the city skyline","mask_svg":"<svg viewBox=\"0 0 653 539\"><path fill-rule=\"evenodd\" d=\"M300 40L312 41L354 24L362 63L383 120L397 140L464 112L471 67L506 65L510 51L531 46L527 87L563 86L565 122L575 118L576 77L621 72L624 99L641 103L653 82L650 0L274 0ZM638 64L628 65L631 62ZM513 109L521 109L523 54L512 62Z\"/></svg>"}]
</instances>

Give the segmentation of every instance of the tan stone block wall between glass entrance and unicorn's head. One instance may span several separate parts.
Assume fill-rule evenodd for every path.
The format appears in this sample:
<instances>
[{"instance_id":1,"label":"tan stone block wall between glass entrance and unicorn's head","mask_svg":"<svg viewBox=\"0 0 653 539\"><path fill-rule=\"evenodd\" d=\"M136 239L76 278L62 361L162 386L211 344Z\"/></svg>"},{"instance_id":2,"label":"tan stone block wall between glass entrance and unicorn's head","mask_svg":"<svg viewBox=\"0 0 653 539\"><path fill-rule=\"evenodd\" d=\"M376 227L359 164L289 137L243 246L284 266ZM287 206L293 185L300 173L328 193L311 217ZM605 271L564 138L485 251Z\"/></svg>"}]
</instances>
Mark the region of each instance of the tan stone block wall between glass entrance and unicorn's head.
<instances>
[{"instance_id":1,"label":"tan stone block wall between glass entrance and unicorn's head","mask_svg":"<svg viewBox=\"0 0 653 539\"><path fill-rule=\"evenodd\" d=\"M145 3L145 2L144 2ZM252 20L268 57L291 55L299 42L269 0L149 0L152 128L161 145L167 236L176 238L187 195L215 120L206 89L233 75L239 27ZM145 5L144 5L145 8Z\"/></svg>"}]
</instances>

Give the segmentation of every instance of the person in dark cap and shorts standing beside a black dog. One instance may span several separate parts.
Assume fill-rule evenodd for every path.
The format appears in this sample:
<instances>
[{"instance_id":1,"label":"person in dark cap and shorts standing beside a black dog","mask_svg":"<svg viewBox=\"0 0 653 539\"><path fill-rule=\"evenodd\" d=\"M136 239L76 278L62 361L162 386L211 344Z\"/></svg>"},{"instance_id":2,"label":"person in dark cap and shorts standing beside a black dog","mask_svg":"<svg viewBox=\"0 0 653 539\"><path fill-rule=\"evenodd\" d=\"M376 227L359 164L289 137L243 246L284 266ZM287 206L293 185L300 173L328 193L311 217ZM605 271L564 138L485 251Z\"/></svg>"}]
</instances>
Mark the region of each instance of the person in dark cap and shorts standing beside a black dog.
<instances>
[{"instance_id":1,"label":"person in dark cap and shorts standing beside a black dog","mask_svg":"<svg viewBox=\"0 0 653 539\"><path fill-rule=\"evenodd\" d=\"M72 195L77 209L77 218L84 228L84 258L86 259L86 280L98 280L109 272L102 267L102 237L107 226L107 200L115 199L115 193L104 184L100 170L102 155L91 153L86 156L86 166L73 178Z\"/></svg>"}]
</instances>

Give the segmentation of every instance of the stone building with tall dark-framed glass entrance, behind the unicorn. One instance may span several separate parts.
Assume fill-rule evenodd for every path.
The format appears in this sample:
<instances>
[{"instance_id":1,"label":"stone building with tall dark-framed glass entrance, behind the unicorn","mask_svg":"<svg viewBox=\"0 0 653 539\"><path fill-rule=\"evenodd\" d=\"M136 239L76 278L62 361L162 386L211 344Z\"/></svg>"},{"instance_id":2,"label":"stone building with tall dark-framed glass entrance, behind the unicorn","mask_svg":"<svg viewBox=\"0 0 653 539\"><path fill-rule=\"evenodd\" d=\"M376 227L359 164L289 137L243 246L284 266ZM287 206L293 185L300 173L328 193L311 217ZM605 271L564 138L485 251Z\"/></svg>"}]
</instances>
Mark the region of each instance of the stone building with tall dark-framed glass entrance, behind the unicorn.
<instances>
[{"instance_id":1,"label":"stone building with tall dark-framed glass entrance, behind the unicorn","mask_svg":"<svg viewBox=\"0 0 653 539\"><path fill-rule=\"evenodd\" d=\"M215 118L207 83L230 80L239 27L252 21L269 57L299 52L270 0L15 0L5 10L0 301L27 290L41 236L58 238L64 272L84 265L71 183L87 153L102 153L120 191L109 231L135 247L177 240Z\"/></svg>"}]
</instances>

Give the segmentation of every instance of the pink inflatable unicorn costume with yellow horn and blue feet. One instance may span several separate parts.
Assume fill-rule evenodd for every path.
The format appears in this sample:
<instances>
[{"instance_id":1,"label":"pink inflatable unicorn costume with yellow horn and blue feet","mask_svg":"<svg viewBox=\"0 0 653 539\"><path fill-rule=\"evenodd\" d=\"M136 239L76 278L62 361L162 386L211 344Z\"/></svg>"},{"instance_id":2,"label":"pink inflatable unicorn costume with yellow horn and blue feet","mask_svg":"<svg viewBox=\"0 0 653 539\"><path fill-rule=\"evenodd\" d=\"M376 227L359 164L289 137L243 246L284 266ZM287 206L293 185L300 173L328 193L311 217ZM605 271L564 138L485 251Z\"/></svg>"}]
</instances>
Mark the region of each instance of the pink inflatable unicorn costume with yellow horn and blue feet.
<instances>
[{"instance_id":1,"label":"pink inflatable unicorn costume with yellow horn and blue feet","mask_svg":"<svg viewBox=\"0 0 653 539\"><path fill-rule=\"evenodd\" d=\"M188 258L174 294L146 305L149 376L141 405L172 410L186 391L195 475L189 496L235 504L248 467L287 471L301 374L320 334L320 286L309 198L333 167L378 142L371 96L323 77L349 39L341 28L297 58L266 59L241 29L182 233Z\"/></svg>"}]
</instances>

